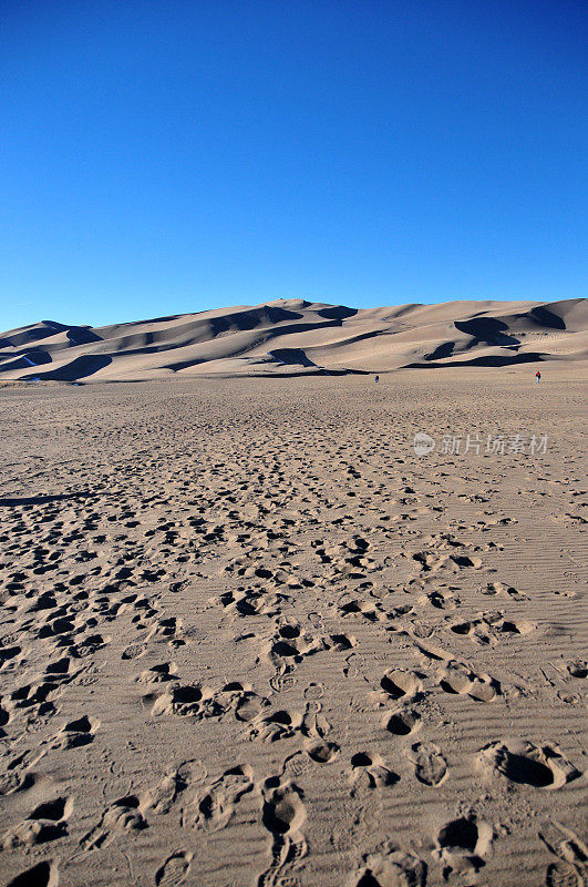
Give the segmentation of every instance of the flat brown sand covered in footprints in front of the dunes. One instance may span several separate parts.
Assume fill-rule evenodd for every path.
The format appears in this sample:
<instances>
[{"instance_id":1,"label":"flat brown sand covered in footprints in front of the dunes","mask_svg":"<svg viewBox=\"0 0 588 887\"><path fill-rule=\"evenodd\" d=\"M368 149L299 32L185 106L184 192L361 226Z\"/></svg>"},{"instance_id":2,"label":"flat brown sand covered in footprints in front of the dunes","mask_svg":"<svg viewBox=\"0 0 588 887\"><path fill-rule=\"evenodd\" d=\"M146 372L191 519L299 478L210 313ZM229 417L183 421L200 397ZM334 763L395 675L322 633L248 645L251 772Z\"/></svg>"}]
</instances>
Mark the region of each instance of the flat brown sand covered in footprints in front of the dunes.
<instances>
[{"instance_id":1,"label":"flat brown sand covered in footprints in front of the dunes","mask_svg":"<svg viewBox=\"0 0 588 887\"><path fill-rule=\"evenodd\" d=\"M1 884L582 885L586 386L535 369L2 387Z\"/></svg>"}]
</instances>

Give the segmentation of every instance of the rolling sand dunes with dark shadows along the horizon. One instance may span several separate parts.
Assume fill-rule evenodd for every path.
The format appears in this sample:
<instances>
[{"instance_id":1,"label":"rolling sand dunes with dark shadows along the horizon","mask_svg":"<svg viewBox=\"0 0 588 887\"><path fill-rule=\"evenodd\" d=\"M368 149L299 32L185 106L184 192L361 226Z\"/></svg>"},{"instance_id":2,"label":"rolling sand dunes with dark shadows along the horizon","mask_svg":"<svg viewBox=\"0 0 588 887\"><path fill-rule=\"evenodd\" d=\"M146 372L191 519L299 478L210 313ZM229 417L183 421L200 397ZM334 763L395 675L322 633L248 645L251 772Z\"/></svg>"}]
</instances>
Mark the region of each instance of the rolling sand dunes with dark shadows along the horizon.
<instances>
[{"instance_id":1,"label":"rolling sand dunes with dark shadows along the horizon","mask_svg":"<svg viewBox=\"0 0 588 887\"><path fill-rule=\"evenodd\" d=\"M0 380L362 374L587 356L586 299L370 309L277 299L96 328L42 320L0 335Z\"/></svg>"}]
</instances>

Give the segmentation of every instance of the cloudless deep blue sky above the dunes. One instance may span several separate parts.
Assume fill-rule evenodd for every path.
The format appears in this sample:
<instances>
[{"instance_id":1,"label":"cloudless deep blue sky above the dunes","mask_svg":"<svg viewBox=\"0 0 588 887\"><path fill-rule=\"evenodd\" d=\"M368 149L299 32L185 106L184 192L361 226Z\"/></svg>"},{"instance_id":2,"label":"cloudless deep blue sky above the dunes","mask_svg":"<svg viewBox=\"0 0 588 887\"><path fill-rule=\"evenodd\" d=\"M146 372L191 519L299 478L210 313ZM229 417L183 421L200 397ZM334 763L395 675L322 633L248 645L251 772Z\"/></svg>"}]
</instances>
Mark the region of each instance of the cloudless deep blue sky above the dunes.
<instances>
[{"instance_id":1,"label":"cloudless deep blue sky above the dunes","mask_svg":"<svg viewBox=\"0 0 588 887\"><path fill-rule=\"evenodd\" d=\"M2 0L0 329L586 296L582 0Z\"/></svg>"}]
</instances>

